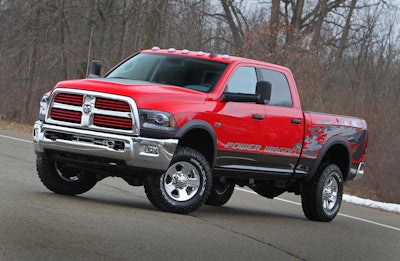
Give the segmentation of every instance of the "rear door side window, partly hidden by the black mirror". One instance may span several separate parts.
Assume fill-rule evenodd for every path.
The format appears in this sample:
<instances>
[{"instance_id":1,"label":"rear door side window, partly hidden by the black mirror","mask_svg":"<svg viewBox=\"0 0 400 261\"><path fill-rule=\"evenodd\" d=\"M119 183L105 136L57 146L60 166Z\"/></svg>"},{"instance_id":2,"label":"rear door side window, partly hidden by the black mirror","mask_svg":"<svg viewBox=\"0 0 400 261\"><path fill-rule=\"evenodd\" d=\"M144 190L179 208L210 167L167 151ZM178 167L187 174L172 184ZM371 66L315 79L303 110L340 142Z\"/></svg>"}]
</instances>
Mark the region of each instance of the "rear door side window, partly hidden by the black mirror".
<instances>
[{"instance_id":1,"label":"rear door side window, partly hidden by the black mirror","mask_svg":"<svg viewBox=\"0 0 400 261\"><path fill-rule=\"evenodd\" d=\"M271 100L268 105L292 107L292 96L286 76L277 71L261 69L263 81L269 81L272 84Z\"/></svg>"}]
</instances>

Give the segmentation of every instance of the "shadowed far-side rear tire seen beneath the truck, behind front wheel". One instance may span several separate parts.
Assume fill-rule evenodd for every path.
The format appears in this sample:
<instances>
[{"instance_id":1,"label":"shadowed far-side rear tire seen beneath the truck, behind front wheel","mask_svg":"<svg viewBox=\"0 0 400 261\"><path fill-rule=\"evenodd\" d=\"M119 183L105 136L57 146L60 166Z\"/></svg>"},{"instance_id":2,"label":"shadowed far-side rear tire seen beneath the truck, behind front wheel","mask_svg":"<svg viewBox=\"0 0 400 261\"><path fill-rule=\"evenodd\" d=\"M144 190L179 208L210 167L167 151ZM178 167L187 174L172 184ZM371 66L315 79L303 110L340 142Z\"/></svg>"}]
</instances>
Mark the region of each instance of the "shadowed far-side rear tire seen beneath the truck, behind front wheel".
<instances>
[{"instance_id":1,"label":"shadowed far-side rear tire seen beneath the truck, behind front wheel","mask_svg":"<svg viewBox=\"0 0 400 261\"><path fill-rule=\"evenodd\" d=\"M231 181L216 181L213 182L210 196L208 197L206 204L212 206L225 205L233 194L235 189L235 183Z\"/></svg>"}]
</instances>

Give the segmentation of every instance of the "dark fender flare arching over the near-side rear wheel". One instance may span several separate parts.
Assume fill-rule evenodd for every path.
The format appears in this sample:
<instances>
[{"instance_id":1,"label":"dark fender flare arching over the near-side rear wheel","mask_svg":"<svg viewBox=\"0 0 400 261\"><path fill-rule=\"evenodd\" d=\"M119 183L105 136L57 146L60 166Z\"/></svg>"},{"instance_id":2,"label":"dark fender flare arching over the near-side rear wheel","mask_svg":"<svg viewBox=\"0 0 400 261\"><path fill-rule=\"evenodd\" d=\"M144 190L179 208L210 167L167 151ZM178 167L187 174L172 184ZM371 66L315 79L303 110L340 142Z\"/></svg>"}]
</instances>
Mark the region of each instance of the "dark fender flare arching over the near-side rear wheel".
<instances>
[{"instance_id":1,"label":"dark fender flare arching over the near-side rear wheel","mask_svg":"<svg viewBox=\"0 0 400 261\"><path fill-rule=\"evenodd\" d=\"M350 144L348 143L348 141L346 139L344 139L343 137L337 136L337 137L332 137L322 146L317 159L314 161L314 164L312 165L311 172L310 172L310 174L311 174L310 178L314 177L314 175L317 172L318 167L320 166L325 155L328 153L329 149L331 149L335 145L342 145L347 150L347 158L348 158L349 162L345 166L346 172L342 173L343 176L347 176L347 174L350 172L350 168L351 168L351 148L350 148Z\"/></svg>"}]
</instances>

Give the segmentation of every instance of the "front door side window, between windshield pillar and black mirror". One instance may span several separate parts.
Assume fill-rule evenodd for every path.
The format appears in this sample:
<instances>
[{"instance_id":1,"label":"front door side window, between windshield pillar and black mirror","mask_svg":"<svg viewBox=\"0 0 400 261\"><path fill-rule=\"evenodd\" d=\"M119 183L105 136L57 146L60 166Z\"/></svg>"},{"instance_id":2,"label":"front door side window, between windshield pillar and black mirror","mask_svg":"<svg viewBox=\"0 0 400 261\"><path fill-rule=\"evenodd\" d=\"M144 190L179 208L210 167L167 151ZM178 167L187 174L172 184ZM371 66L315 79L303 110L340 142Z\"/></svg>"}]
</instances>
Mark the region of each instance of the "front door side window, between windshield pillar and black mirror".
<instances>
[{"instance_id":1,"label":"front door side window, between windshield pillar and black mirror","mask_svg":"<svg viewBox=\"0 0 400 261\"><path fill-rule=\"evenodd\" d=\"M226 92L255 94L257 74L254 67L239 67L229 80Z\"/></svg>"}]
</instances>

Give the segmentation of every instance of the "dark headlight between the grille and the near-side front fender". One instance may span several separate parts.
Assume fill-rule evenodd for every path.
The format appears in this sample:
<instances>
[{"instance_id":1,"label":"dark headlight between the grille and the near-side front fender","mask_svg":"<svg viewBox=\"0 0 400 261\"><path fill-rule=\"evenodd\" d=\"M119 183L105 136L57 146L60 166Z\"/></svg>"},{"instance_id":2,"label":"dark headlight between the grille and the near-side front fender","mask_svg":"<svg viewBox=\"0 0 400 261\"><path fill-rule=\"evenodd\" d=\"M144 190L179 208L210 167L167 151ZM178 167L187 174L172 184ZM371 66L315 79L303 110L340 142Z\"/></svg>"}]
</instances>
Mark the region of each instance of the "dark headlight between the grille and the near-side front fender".
<instances>
[{"instance_id":1,"label":"dark headlight between the grille and the near-side front fender","mask_svg":"<svg viewBox=\"0 0 400 261\"><path fill-rule=\"evenodd\" d=\"M174 132L176 122L171 113L153 110L140 110L140 125L144 129Z\"/></svg>"}]
</instances>

